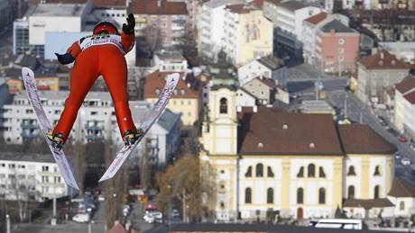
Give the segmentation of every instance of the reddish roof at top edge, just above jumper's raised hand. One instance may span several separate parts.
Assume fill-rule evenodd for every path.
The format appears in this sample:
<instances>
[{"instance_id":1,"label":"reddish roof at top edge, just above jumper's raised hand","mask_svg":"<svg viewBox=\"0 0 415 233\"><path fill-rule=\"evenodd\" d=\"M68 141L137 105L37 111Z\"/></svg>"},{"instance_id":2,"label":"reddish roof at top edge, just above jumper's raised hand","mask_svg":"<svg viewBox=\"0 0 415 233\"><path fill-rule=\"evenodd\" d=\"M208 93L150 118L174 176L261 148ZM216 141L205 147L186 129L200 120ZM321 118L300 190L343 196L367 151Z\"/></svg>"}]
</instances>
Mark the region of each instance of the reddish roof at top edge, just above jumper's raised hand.
<instances>
[{"instance_id":1,"label":"reddish roof at top edge, just above jumper's raised hand","mask_svg":"<svg viewBox=\"0 0 415 233\"><path fill-rule=\"evenodd\" d=\"M188 14L185 3L167 2L166 0L161 0L160 6L158 6L157 0L134 0L128 6L127 12L136 14Z\"/></svg>"}]
</instances>

